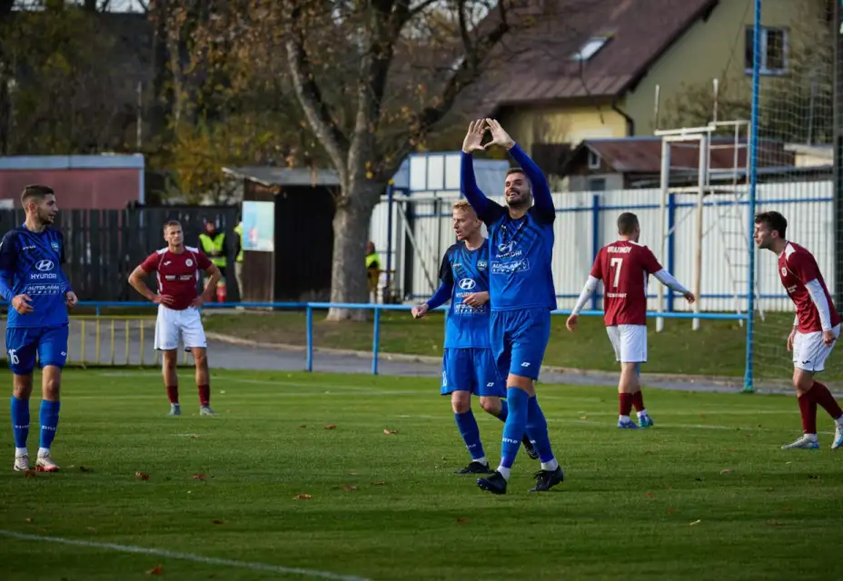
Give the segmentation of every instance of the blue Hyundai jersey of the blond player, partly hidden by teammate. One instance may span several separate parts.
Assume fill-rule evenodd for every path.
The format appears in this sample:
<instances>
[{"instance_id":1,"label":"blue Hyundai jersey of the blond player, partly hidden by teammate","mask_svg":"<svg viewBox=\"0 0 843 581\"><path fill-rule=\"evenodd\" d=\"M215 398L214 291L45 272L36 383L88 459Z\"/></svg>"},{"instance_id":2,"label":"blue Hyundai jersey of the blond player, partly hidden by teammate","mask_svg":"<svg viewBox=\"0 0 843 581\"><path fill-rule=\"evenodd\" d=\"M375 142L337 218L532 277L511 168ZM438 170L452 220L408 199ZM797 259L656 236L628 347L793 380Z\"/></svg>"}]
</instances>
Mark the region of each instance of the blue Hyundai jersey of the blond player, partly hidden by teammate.
<instances>
[{"instance_id":1,"label":"blue Hyundai jersey of the blond player, partly hidden by teammate","mask_svg":"<svg viewBox=\"0 0 843 581\"><path fill-rule=\"evenodd\" d=\"M439 278L452 289L445 349L488 348L489 302L475 309L462 300L471 293L489 291L489 241L473 251L464 241L451 246L442 258Z\"/></svg>"}]
</instances>

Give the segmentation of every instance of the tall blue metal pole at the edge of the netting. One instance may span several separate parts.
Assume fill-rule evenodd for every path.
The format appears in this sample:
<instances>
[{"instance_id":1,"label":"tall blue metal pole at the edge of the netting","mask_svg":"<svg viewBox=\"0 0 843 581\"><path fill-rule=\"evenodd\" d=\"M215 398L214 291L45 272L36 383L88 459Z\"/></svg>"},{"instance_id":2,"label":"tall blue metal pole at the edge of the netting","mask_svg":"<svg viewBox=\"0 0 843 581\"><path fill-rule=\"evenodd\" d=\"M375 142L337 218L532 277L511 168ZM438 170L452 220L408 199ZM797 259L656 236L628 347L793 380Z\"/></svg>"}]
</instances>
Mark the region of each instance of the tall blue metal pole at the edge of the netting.
<instances>
[{"instance_id":1,"label":"tall blue metal pole at the edge of the netting","mask_svg":"<svg viewBox=\"0 0 843 581\"><path fill-rule=\"evenodd\" d=\"M761 0L755 0L755 26L752 29L752 115L749 133L749 232L755 231L755 196L758 185L759 160L759 79L761 73ZM755 321L755 244L749 241L749 267L747 271L747 361L743 390L751 393L752 330Z\"/></svg>"}]
</instances>

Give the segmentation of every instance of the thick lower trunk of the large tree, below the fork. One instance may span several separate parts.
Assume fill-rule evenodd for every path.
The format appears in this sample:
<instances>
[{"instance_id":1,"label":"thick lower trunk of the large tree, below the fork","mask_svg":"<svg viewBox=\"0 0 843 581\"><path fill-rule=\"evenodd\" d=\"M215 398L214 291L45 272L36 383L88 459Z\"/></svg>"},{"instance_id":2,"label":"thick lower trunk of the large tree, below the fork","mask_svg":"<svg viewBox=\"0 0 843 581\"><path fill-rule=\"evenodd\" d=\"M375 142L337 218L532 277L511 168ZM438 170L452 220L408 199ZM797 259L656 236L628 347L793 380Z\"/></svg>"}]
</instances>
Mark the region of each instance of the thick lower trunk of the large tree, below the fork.
<instances>
[{"instance_id":1,"label":"thick lower trunk of the large tree, below the fork","mask_svg":"<svg viewBox=\"0 0 843 581\"><path fill-rule=\"evenodd\" d=\"M372 182L363 182L356 189L356 192L343 189L333 216L331 302L369 302L366 242L369 241L374 204L382 188ZM366 320L367 314L366 310L331 309L328 320Z\"/></svg>"}]
</instances>

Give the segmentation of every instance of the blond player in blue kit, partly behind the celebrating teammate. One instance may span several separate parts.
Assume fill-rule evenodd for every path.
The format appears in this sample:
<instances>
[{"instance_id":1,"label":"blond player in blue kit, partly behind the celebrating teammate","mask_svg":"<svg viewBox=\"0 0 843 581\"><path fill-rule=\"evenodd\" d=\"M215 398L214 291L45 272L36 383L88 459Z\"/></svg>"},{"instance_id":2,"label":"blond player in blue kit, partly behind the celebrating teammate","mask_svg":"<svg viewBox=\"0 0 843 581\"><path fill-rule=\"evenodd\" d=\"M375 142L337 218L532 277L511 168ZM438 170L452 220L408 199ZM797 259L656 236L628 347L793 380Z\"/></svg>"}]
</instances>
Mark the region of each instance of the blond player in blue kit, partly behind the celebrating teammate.
<instances>
[{"instance_id":1,"label":"blond player in blue kit, partly behind the celebrating teammate","mask_svg":"<svg viewBox=\"0 0 843 581\"><path fill-rule=\"evenodd\" d=\"M445 327L441 395L451 396L451 408L471 462L459 474L491 474L483 451L480 428L471 411L471 394L480 397L481 408L506 421L509 412L506 388L498 375L489 343L489 243L481 233L481 221L465 200L453 205L453 231L457 243L442 258L439 289L430 300L412 308L422 318L428 310L451 300ZM522 438L527 454L538 458L530 438Z\"/></svg>"}]
</instances>

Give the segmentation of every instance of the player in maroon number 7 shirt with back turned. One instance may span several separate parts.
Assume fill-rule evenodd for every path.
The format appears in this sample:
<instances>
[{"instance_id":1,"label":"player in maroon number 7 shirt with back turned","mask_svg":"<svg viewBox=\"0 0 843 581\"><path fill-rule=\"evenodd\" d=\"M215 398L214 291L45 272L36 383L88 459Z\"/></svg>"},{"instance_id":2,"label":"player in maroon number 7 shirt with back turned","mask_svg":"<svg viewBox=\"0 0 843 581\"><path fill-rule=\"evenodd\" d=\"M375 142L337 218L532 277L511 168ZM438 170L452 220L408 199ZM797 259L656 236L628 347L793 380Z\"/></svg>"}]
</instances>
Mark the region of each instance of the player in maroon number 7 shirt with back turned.
<instances>
[{"instance_id":1,"label":"player in maroon number 7 shirt with back turned","mask_svg":"<svg viewBox=\"0 0 843 581\"><path fill-rule=\"evenodd\" d=\"M653 420L644 408L639 376L640 364L647 361L647 277L652 274L672 291L681 292L690 303L696 298L661 268L649 248L639 244L638 216L630 212L620 214L618 234L618 241L597 253L589 280L571 310L566 326L570 331L577 328L580 310L597 289L597 283L603 281L603 322L615 358L620 361L618 428L639 428L639 425L650 428ZM639 424L630 419L633 406L638 411Z\"/></svg>"}]
</instances>

